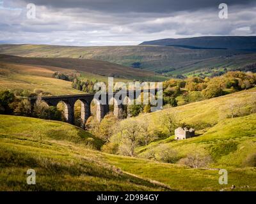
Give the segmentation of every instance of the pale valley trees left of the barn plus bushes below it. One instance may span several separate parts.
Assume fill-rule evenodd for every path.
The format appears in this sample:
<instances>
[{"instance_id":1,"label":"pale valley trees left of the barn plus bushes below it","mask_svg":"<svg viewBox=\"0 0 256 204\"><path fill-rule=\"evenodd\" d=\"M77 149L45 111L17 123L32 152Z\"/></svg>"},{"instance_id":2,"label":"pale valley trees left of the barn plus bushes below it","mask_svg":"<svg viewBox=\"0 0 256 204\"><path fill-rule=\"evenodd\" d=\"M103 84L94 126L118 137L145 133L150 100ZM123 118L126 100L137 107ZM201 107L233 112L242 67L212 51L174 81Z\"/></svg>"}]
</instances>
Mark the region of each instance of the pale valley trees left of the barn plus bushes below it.
<instances>
[{"instance_id":1,"label":"pale valley trees left of the barn plus bushes below it","mask_svg":"<svg viewBox=\"0 0 256 204\"><path fill-rule=\"evenodd\" d=\"M173 135L179 124L177 114L163 113L159 119L159 125L166 130L167 135L161 135L156 129L151 129L149 119L143 120L132 118L129 120L118 120L113 114L106 115L102 122L90 117L87 123L88 131L101 138L105 143L102 151L109 154L118 154L123 156L137 156L136 148L147 146L150 142L166 138L167 135ZM191 168L208 168L212 163L211 156L202 152L193 152L186 157L181 157L177 150L172 149L168 144L161 144L157 148L146 150L140 157L161 161L164 163L179 163Z\"/></svg>"}]
</instances>

